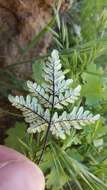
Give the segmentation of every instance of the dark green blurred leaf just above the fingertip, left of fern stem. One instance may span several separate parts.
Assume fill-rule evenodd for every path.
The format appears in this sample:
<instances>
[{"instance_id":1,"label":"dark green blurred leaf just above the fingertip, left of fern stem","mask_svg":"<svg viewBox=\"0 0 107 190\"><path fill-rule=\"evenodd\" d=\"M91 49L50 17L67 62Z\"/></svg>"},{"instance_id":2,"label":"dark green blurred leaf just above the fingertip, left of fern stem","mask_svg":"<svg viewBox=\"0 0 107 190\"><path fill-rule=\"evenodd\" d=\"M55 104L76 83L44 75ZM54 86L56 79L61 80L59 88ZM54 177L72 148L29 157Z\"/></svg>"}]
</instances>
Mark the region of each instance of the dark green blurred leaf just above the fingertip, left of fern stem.
<instances>
[{"instance_id":1,"label":"dark green blurred leaf just above the fingertip, left of fern stem","mask_svg":"<svg viewBox=\"0 0 107 190\"><path fill-rule=\"evenodd\" d=\"M39 144L32 135L26 133L26 129L27 126L24 122L16 122L14 127L7 130L5 145L23 153L30 160L36 162Z\"/></svg>"}]
</instances>

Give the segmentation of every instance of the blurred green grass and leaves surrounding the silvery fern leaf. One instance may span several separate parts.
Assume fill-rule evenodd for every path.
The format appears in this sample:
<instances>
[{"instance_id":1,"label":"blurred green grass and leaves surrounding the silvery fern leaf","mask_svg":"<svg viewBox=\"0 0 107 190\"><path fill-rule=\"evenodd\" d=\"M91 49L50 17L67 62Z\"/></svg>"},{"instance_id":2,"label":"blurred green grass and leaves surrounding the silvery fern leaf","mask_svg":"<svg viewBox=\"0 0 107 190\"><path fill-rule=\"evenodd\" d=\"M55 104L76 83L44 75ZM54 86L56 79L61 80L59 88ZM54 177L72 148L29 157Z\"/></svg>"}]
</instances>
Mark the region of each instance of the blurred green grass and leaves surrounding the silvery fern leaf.
<instances>
[{"instance_id":1,"label":"blurred green grass and leaves surrounding the silvery fern leaf","mask_svg":"<svg viewBox=\"0 0 107 190\"><path fill-rule=\"evenodd\" d=\"M24 80L13 75L16 65L32 63L30 79L42 83L42 65L53 48L58 49L66 78L74 85L82 85L80 105L93 113L100 113L95 125L72 135L65 141L49 141L40 167L46 176L46 189L105 190L107 189L107 2L106 0L74 0L61 12L53 7L54 16L22 51L37 46L45 33L52 35L47 54L18 61L0 69L1 116L11 115L11 128L6 130L5 144L36 162L42 144L38 135L29 136L20 113L7 106L9 93L26 94ZM63 6L63 9L65 7ZM70 108L69 108L70 109ZM17 122L16 122L17 121ZM15 124L16 122L16 124Z\"/></svg>"}]
</instances>

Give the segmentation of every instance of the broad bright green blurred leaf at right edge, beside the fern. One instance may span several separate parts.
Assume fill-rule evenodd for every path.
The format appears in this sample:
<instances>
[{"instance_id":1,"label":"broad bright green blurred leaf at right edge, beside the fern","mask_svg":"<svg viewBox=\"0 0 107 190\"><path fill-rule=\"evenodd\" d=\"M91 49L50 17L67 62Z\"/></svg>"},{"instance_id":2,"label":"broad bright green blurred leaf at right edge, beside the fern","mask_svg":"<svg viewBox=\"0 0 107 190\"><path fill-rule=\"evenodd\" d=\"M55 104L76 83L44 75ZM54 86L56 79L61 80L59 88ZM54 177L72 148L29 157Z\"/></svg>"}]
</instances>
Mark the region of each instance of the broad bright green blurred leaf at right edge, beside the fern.
<instances>
[{"instance_id":1,"label":"broad bright green blurred leaf at right edge, beside the fern","mask_svg":"<svg viewBox=\"0 0 107 190\"><path fill-rule=\"evenodd\" d=\"M84 83L82 95L86 97L86 104L96 106L106 98L107 90L104 88L103 70L97 69L95 64L90 64L82 74L82 79Z\"/></svg>"}]
</instances>

